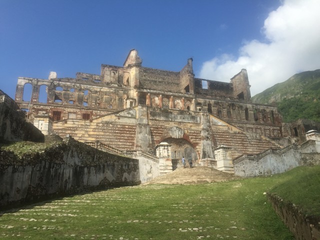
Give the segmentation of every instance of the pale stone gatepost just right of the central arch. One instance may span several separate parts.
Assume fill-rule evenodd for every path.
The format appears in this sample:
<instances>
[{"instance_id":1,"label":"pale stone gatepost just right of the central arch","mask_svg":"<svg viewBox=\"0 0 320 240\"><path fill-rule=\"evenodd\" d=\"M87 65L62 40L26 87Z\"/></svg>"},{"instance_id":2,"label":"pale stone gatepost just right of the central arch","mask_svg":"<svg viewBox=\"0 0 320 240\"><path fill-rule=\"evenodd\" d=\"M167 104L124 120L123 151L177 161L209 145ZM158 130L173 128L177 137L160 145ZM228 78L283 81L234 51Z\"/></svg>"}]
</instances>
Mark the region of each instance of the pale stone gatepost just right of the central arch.
<instances>
[{"instance_id":1,"label":"pale stone gatepost just right of the central arch","mask_svg":"<svg viewBox=\"0 0 320 240\"><path fill-rule=\"evenodd\" d=\"M220 145L214 149L216 168L227 173L234 173L231 147Z\"/></svg>"}]
</instances>

